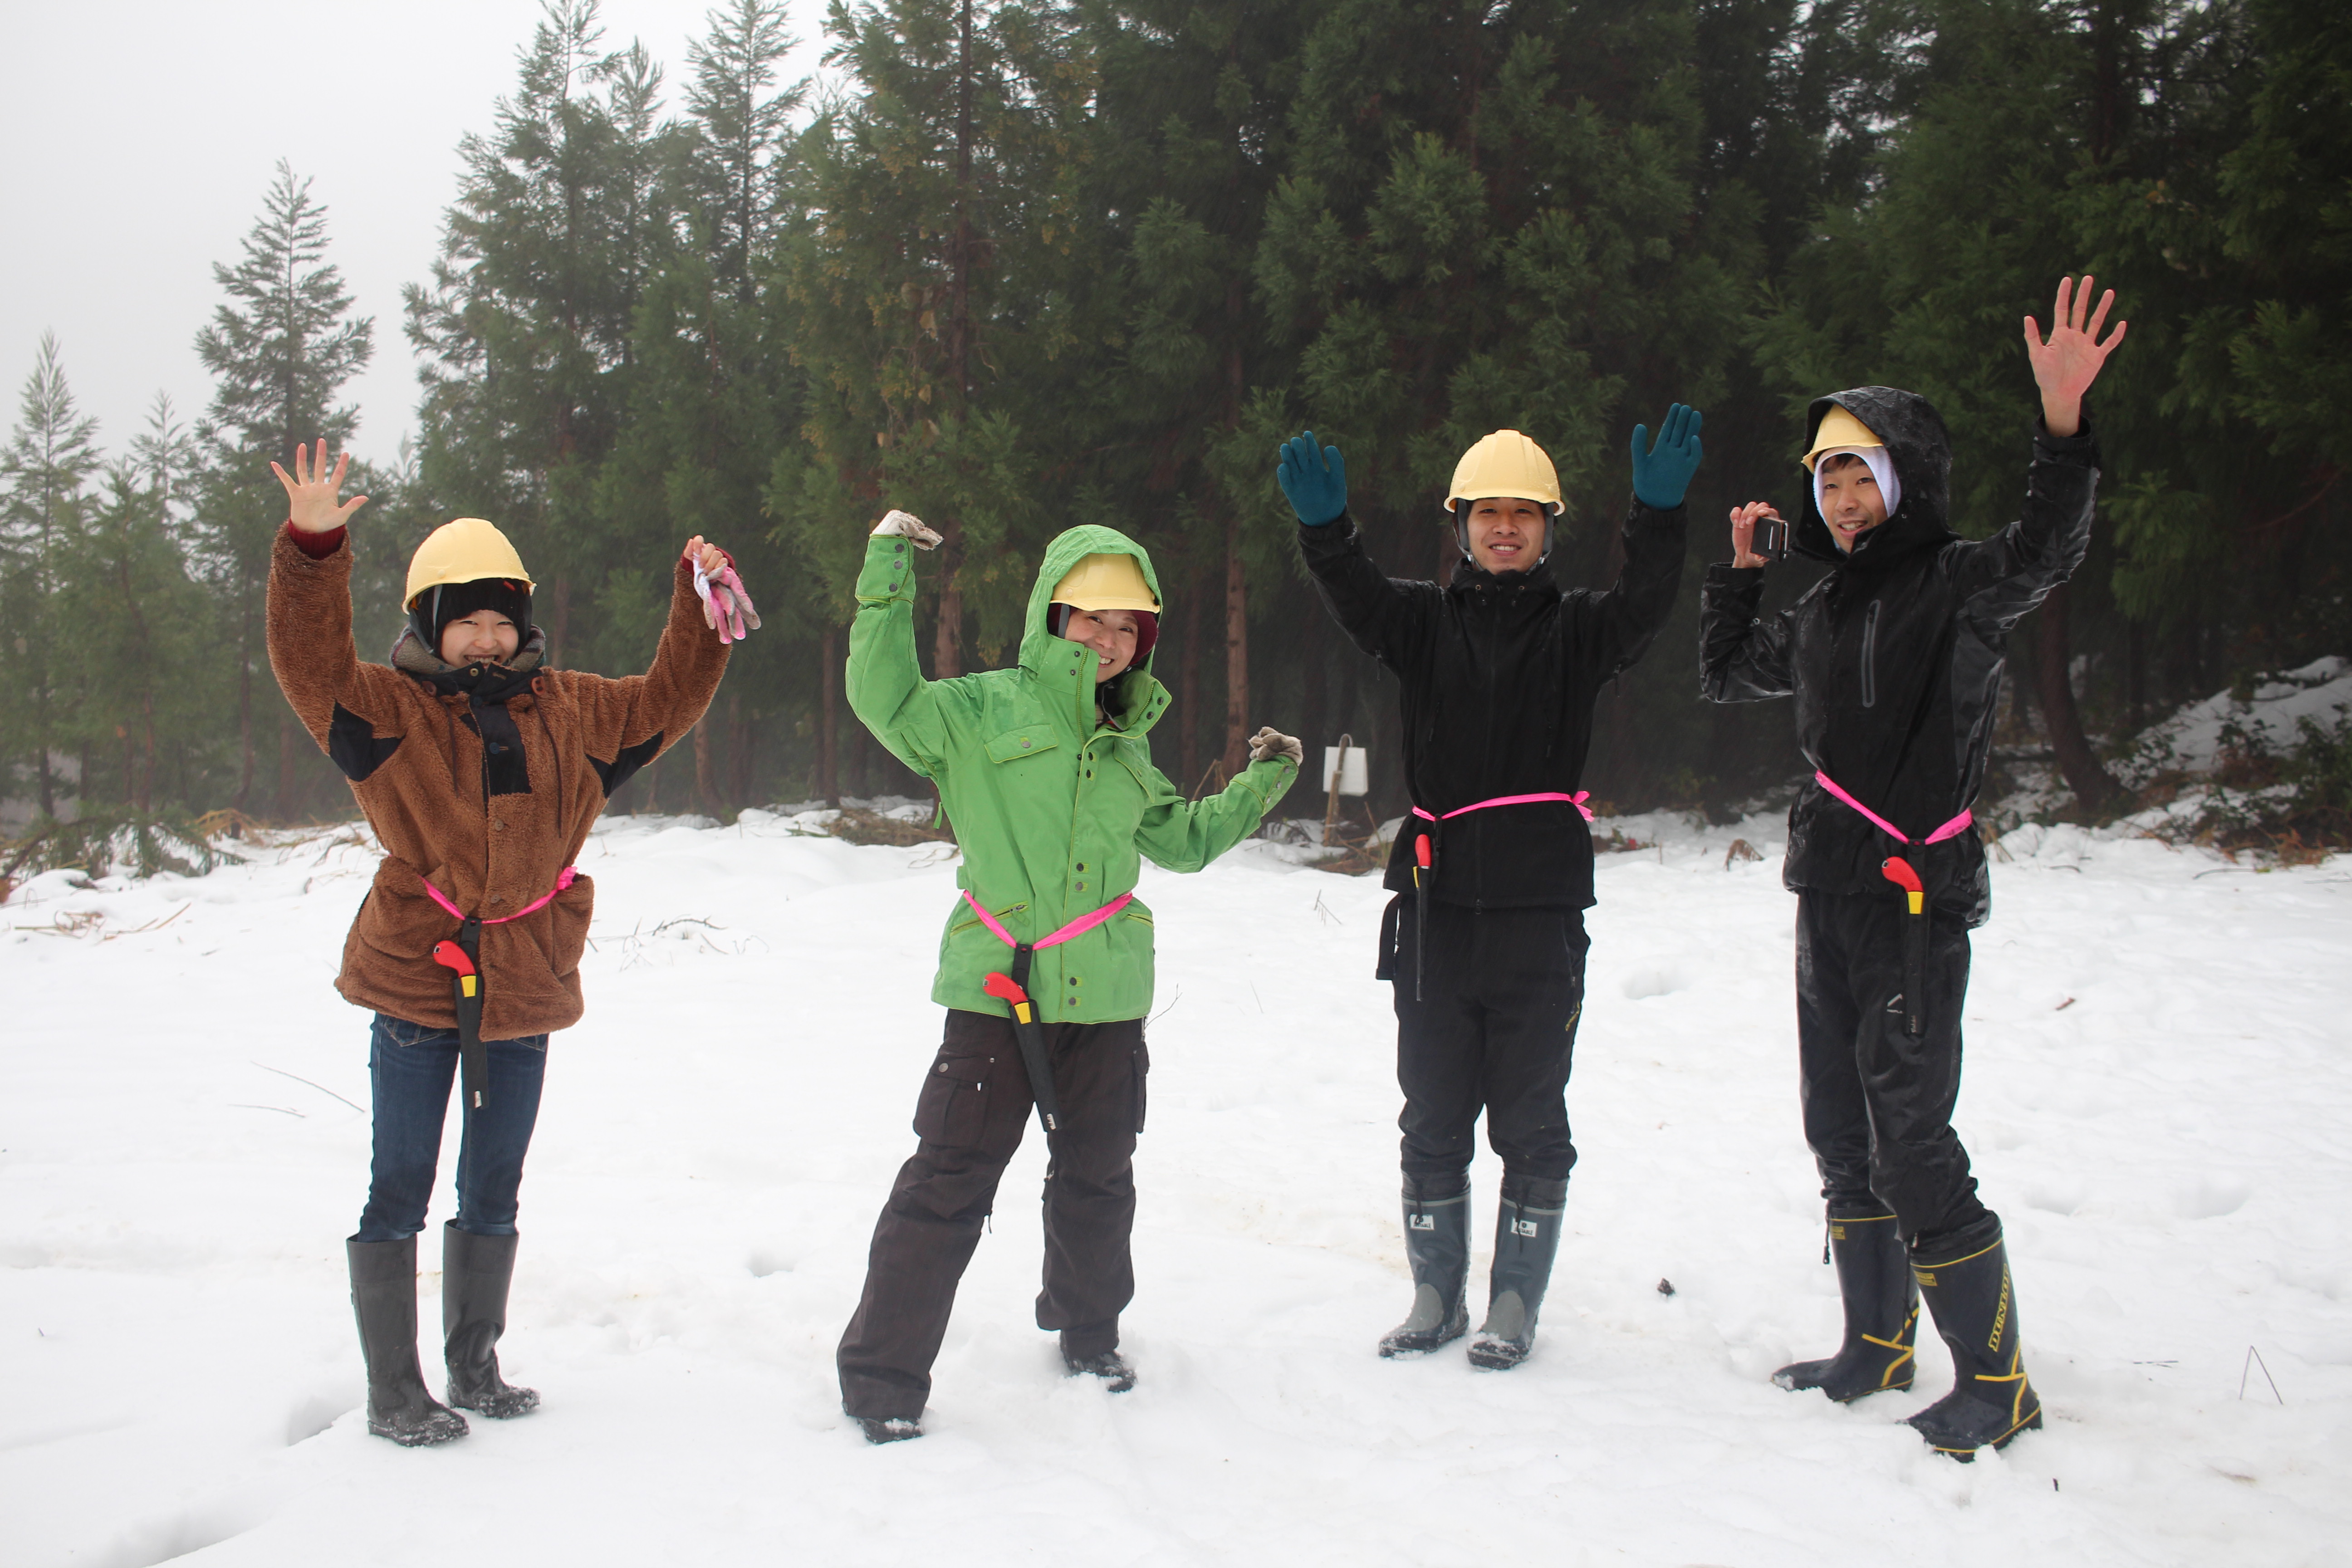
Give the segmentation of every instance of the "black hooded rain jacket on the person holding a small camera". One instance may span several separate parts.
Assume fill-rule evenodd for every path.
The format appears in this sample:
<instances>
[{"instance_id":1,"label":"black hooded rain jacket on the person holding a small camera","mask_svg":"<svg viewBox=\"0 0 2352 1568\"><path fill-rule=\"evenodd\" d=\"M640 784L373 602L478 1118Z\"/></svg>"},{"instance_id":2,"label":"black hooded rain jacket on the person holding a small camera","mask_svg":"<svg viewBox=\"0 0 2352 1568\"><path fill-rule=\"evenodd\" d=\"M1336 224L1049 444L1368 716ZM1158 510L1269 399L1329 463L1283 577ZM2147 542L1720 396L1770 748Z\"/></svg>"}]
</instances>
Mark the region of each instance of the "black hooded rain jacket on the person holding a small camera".
<instances>
[{"instance_id":1,"label":"black hooded rain jacket on the person holding a small camera","mask_svg":"<svg viewBox=\"0 0 2352 1568\"><path fill-rule=\"evenodd\" d=\"M2089 418L2065 440L2034 421L2025 510L1992 538L1966 541L1947 522L1943 416L1917 393L1863 386L1813 402L1806 447L1832 404L1886 442L1903 505L1844 555L1806 484L1790 548L1830 574L1778 616L1757 618L1762 567L1708 567L1700 684L1717 703L1795 696L1804 759L1917 844L1976 804L2009 630L2091 548L2098 447ZM1879 865L1898 851L1936 910L1985 924L1992 884L1976 832L1905 849L1818 783L1788 811L1783 879L1792 891L1891 893Z\"/></svg>"}]
</instances>

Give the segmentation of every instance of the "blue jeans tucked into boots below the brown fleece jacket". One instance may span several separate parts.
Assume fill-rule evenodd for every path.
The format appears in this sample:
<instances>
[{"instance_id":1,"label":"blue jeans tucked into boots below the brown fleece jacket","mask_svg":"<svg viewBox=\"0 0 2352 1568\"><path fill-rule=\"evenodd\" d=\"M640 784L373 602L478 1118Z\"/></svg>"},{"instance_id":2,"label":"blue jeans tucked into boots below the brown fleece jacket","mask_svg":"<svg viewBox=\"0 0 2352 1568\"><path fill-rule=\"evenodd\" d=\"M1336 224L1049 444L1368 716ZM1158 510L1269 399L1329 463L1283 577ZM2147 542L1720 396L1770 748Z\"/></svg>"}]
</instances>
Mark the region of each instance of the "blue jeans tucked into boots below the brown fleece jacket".
<instances>
[{"instance_id":1,"label":"blue jeans tucked into boots below the brown fleece jacket","mask_svg":"<svg viewBox=\"0 0 2352 1568\"><path fill-rule=\"evenodd\" d=\"M456 1147L456 1227L475 1237L515 1234L522 1154L539 1121L548 1037L492 1039L482 1110L466 1110ZM353 1241L402 1241L426 1227L440 1133L456 1079L456 1030L376 1013L367 1032L367 1081L376 1105L376 1154L367 1208Z\"/></svg>"}]
</instances>

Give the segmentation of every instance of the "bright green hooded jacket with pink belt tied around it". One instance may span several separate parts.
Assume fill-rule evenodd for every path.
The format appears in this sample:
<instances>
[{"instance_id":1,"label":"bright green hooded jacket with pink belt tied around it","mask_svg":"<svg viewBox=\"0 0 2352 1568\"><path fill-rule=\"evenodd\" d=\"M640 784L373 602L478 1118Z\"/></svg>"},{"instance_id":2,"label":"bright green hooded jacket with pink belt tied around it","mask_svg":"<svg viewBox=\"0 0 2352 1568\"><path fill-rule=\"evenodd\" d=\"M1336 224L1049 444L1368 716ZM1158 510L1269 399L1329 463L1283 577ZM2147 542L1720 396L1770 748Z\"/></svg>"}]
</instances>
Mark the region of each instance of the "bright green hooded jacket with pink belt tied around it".
<instances>
[{"instance_id":1,"label":"bright green hooded jacket with pink belt tied around it","mask_svg":"<svg viewBox=\"0 0 2352 1568\"><path fill-rule=\"evenodd\" d=\"M906 538L875 536L858 574L849 623L849 708L894 757L938 783L964 863L957 884L1023 943L1091 914L1136 886L1141 856L1197 872L1240 844L1298 776L1289 759L1254 762L1223 795L1188 802L1152 766L1150 726L1169 691L1152 661L1101 686L1094 651L1047 630L1054 588L1087 555L1131 555L1160 597L1152 559L1117 529L1077 527L1047 545L1030 588L1021 663L927 682L915 663L915 555ZM938 938L931 999L1002 1013L981 990L1011 971L1007 947L962 898ZM1129 903L1112 919L1030 964L1030 997L1044 1023L1115 1023L1152 1006L1152 914Z\"/></svg>"}]
</instances>

